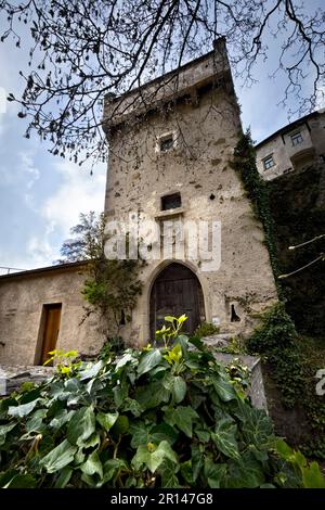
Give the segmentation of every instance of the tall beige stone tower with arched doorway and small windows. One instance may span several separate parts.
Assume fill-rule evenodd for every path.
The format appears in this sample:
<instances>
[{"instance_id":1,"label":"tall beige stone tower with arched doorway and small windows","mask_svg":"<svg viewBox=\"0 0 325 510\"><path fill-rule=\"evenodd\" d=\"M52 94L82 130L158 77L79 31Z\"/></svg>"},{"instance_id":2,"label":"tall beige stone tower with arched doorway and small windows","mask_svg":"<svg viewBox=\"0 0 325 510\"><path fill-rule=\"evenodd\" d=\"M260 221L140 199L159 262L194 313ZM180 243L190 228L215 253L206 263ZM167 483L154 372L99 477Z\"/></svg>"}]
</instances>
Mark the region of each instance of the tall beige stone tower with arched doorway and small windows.
<instances>
[{"instance_id":1,"label":"tall beige stone tower with arched doorway and small windows","mask_svg":"<svg viewBox=\"0 0 325 510\"><path fill-rule=\"evenodd\" d=\"M138 220L148 255L125 337L146 343L165 316L181 314L187 332L203 321L249 332L276 290L262 227L230 165L242 128L224 39L177 72L106 97L103 126L106 220L128 232Z\"/></svg>"}]
</instances>

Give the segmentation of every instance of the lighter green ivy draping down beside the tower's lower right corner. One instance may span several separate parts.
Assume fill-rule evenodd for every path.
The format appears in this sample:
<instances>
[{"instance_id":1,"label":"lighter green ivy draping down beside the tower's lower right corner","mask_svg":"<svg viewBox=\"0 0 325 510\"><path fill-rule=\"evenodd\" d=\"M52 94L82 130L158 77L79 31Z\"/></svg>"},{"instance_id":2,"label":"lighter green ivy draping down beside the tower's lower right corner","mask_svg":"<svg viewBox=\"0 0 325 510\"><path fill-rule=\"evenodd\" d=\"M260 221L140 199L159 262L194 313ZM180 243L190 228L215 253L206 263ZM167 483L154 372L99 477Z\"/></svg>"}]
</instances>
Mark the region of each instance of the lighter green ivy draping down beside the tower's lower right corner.
<instances>
[{"instance_id":1,"label":"lighter green ivy draping down beside the tower's lower right corner","mask_svg":"<svg viewBox=\"0 0 325 510\"><path fill-rule=\"evenodd\" d=\"M299 336L283 303L276 303L261 318L261 324L246 341L250 354L261 355L276 382L285 408L303 412L308 423L299 447L309 457L325 459L325 403L315 393L315 374L324 368L324 347L315 350L315 340ZM286 412L286 411L284 411ZM291 431L288 422L287 437Z\"/></svg>"}]
</instances>

